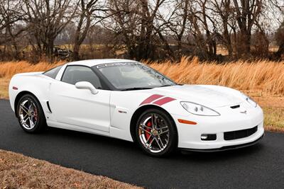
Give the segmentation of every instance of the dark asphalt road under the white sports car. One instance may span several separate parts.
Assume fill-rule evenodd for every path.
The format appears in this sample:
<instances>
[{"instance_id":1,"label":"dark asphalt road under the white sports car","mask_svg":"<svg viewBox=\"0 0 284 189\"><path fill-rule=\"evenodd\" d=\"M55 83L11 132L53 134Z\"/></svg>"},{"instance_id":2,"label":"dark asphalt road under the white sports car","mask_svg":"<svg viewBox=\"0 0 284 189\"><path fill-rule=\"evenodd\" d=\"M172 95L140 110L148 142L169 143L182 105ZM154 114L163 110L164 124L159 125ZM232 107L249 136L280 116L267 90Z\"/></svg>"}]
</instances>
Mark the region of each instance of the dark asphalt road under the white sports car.
<instances>
[{"instance_id":1,"label":"dark asphalt road under the white sports car","mask_svg":"<svg viewBox=\"0 0 284 189\"><path fill-rule=\"evenodd\" d=\"M284 134L266 132L253 147L216 153L144 155L135 144L50 128L21 130L9 101L0 100L0 149L146 188L283 188Z\"/></svg>"}]
</instances>

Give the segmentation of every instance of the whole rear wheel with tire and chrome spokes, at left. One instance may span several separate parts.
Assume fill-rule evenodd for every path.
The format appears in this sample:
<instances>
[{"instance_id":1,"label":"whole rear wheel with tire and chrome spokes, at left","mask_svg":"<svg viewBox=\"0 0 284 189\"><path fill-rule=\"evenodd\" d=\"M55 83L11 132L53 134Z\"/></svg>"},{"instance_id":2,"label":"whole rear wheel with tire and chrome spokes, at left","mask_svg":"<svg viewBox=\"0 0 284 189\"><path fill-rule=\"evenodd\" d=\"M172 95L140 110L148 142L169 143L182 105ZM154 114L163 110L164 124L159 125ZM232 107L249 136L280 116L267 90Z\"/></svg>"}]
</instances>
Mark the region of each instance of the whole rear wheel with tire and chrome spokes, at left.
<instances>
[{"instance_id":1,"label":"whole rear wheel with tire and chrome spokes, at left","mask_svg":"<svg viewBox=\"0 0 284 189\"><path fill-rule=\"evenodd\" d=\"M40 132L46 127L45 115L38 99L26 94L18 101L16 114L18 122L26 132Z\"/></svg>"}]
</instances>

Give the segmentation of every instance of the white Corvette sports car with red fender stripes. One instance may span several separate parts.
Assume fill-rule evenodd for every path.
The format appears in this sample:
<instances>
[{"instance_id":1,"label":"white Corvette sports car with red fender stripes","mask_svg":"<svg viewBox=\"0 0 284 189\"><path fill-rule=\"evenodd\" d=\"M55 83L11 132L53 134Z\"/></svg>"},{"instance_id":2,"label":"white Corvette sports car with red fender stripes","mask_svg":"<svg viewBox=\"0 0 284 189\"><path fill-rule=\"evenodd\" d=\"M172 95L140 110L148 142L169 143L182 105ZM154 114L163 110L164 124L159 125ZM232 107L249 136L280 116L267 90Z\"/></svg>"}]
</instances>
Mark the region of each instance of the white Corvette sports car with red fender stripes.
<instances>
[{"instance_id":1,"label":"white Corvette sports car with red fender stripes","mask_svg":"<svg viewBox=\"0 0 284 189\"><path fill-rule=\"evenodd\" d=\"M164 156L175 149L220 151L256 144L263 111L224 86L176 84L127 59L70 62L16 74L11 108L26 132L59 127L137 142Z\"/></svg>"}]
</instances>

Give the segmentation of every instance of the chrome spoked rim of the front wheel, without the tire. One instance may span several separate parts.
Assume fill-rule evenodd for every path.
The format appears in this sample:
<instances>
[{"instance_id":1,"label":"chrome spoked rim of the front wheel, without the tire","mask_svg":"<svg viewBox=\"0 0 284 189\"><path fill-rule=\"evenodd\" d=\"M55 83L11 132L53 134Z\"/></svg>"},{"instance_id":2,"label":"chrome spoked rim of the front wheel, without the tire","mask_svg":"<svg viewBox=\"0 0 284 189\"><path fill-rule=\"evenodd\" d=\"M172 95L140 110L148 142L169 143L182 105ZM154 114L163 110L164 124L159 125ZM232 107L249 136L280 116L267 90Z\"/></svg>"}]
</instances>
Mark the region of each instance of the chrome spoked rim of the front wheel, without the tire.
<instances>
[{"instance_id":1,"label":"chrome spoked rim of the front wheel, without the tire","mask_svg":"<svg viewBox=\"0 0 284 189\"><path fill-rule=\"evenodd\" d=\"M145 149L159 153L168 147L170 140L168 123L158 114L145 115L138 128L138 136Z\"/></svg>"}]
</instances>

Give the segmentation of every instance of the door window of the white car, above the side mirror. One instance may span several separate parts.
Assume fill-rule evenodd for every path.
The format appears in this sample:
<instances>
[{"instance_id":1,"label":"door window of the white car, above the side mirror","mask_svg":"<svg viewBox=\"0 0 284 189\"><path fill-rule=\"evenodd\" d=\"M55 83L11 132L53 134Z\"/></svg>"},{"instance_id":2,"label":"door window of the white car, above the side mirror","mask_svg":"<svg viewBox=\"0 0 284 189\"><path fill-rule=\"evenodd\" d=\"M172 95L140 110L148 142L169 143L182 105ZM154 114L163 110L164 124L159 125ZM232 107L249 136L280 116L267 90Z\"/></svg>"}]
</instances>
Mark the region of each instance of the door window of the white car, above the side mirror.
<instances>
[{"instance_id":1,"label":"door window of the white car, above the side mirror","mask_svg":"<svg viewBox=\"0 0 284 189\"><path fill-rule=\"evenodd\" d=\"M88 81L95 88L102 88L102 84L99 81L99 77L89 67L66 67L61 81L72 85L75 85L79 81Z\"/></svg>"}]
</instances>

